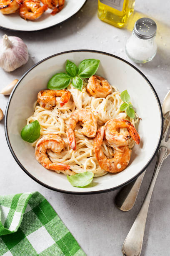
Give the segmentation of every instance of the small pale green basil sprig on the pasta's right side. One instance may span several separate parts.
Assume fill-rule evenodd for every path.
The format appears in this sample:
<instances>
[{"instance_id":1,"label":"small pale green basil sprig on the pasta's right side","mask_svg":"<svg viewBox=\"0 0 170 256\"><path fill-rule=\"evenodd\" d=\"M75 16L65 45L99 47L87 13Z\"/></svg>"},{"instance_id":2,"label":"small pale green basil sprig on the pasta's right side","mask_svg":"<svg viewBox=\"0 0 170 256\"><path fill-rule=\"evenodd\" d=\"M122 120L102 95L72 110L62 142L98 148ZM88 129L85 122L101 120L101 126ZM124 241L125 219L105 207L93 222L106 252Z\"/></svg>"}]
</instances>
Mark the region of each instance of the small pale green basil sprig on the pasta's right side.
<instances>
[{"instance_id":1,"label":"small pale green basil sprig on the pasta's right side","mask_svg":"<svg viewBox=\"0 0 170 256\"><path fill-rule=\"evenodd\" d=\"M135 110L133 109L133 105L130 103L130 95L128 94L128 91L125 90L125 91L121 92L120 97L121 97L121 100L124 102L120 106L120 110L121 111L126 110L126 114L130 118L135 118Z\"/></svg>"}]
</instances>

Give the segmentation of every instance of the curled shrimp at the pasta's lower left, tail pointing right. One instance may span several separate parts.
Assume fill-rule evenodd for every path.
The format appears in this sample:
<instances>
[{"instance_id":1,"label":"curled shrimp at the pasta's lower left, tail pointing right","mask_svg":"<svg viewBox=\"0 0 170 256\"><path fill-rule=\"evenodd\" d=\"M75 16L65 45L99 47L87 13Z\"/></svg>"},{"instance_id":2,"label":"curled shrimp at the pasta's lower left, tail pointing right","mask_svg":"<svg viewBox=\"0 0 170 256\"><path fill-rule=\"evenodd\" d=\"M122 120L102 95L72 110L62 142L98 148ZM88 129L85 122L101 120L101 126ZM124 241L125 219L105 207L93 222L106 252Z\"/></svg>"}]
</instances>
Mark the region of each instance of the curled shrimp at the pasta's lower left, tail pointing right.
<instances>
[{"instance_id":1,"label":"curled shrimp at the pasta's lower left, tail pointing right","mask_svg":"<svg viewBox=\"0 0 170 256\"><path fill-rule=\"evenodd\" d=\"M35 147L35 157L37 161L42 164L46 169L53 170L57 173L63 172L72 175L74 172L70 171L70 166L63 163L52 163L47 155L47 149L55 153L60 153L65 147L65 142L58 135L47 134L37 141Z\"/></svg>"}]
</instances>

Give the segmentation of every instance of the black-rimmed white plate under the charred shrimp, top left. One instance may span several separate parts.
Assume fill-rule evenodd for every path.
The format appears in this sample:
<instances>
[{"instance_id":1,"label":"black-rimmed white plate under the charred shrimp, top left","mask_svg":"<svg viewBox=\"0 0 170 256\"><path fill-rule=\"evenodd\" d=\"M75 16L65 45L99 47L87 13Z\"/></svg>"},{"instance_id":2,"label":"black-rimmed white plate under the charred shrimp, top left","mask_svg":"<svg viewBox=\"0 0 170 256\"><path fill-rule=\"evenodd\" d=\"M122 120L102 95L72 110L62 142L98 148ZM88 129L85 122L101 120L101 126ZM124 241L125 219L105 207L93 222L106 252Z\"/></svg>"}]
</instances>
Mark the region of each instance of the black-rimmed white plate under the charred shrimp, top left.
<instances>
[{"instance_id":1,"label":"black-rimmed white plate under the charred shrimp, top left","mask_svg":"<svg viewBox=\"0 0 170 256\"><path fill-rule=\"evenodd\" d=\"M86 0L66 0L64 8L56 15L51 15L51 9L48 9L37 20L24 20L18 13L3 15L0 13L0 27L15 31L37 31L55 26L72 15L77 13Z\"/></svg>"}]
</instances>

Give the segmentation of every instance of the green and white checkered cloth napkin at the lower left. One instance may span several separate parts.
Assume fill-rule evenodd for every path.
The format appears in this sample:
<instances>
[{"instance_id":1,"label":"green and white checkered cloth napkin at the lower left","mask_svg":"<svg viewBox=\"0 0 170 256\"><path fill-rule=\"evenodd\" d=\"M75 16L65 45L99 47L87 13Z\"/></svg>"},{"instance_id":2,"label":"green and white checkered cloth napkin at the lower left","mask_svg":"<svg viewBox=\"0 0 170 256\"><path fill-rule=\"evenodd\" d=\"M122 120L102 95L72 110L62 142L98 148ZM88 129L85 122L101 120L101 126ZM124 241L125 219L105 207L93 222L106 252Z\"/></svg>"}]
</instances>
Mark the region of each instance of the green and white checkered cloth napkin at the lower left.
<instances>
[{"instance_id":1,"label":"green and white checkered cloth napkin at the lower left","mask_svg":"<svg viewBox=\"0 0 170 256\"><path fill-rule=\"evenodd\" d=\"M39 193L0 196L0 256L85 256Z\"/></svg>"}]
</instances>

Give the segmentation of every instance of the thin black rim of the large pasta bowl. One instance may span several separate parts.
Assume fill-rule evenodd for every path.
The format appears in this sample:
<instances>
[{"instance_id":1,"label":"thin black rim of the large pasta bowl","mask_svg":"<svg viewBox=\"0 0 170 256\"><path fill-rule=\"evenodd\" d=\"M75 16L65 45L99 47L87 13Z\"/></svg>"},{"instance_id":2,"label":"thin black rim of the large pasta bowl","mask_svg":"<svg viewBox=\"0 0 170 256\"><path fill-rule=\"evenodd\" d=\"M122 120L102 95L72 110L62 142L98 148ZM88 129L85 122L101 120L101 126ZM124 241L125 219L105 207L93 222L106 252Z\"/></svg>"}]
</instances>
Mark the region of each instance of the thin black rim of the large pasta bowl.
<instances>
[{"instance_id":1,"label":"thin black rim of the large pasta bowl","mask_svg":"<svg viewBox=\"0 0 170 256\"><path fill-rule=\"evenodd\" d=\"M129 179L127 182L117 186L117 187L113 187L113 188L109 188L109 189L103 189L103 190L97 190L97 191L91 191L91 192L72 192L72 191L67 191L67 190L62 190L62 189L56 189L55 187L50 187L48 186L47 184L41 182L40 180L36 179L34 176L32 176L32 174L30 174L26 169L25 167L20 163L20 161L18 160L17 156L15 155L15 152L13 151L13 148L10 144L10 140L9 140L9 137L8 137L8 132L7 132L7 115L8 115L8 110L9 110L9 107L10 107L10 101L13 97L13 94L18 86L18 84L21 82L21 80L28 74L28 72L30 72L30 70L34 69L35 67L37 67L39 64L41 64L43 61L46 61L47 59L50 59L54 56L57 56L57 55L61 55L61 54L66 54L66 53L70 53L70 52L81 52L81 51L84 51L84 52L94 52L94 53L99 53L99 54L105 54L107 56L112 56L116 59L119 59L123 62L125 62L126 64L130 65L131 67L133 67L139 74L141 74L143 76L143 78L145 78L145 80L148 82L150 88L153 90L153 93L156 97L156 100L158 102L158 105L159 105L159 109L160 109L160 116L161 116L161 131L160 131L160 138L158 140L158 144L157 144L157 147L153 153L153 155L151 156L150 160L148 161L148 163L143 167L143 169L140 170L140 172L138 174L136 174L132 179ZM7 140L7 144L10 148L10 151L15 159L15 161L18 163L18 165L21 167L21 169L23 169L23 171L28 174L28 176L30 176L33 180L35 180L37 183L41 184L42 186L48 188L48 189L52 189L54 191L57 191L57 192L62 192L62 193L66 193L66 194L75 194L75 195L91 195L91 194L99 194L99 193L105 193L105 192L110 192L110 191L113 191L115 189L119 189L120 187L123 187L125 185L127 185L128 183L132 182L134 179L136 179L138 176L140 176L140 174L142 174L144 172L144 170L148 167L148 165L150 164L150 162L153 160L159 146L160 146L160 142L161 142L161 138L162 138L162 134L163 134L163 112L162 112L162 108L161 108L161 104L160 104L160 100L159 100L159 97L153 87L153 85L150 83L150 81L148 80L147 77L145 77L145 75L138 69L136 68L135 66L133 66L133 64L129 63L128 61L118 57L118 56L115 56L113 54L109 54L109 53L106 53L106 52L103 52L103 51L95 51L95 50L72 50L72 51L63 51L61 53L58 53L58 54L54 54L54 55L51 55L45 59L42 59L41 61L39 61L37 64L35 64L34 66L32 66L30 69L28 69L27 72L25 72L25 74L20 78L20 80L18 81L18 83L15 85L15 88L13 89L13 92L11 93L10 95L10 98L7 102L7 107L6 107L6 111L5 111L5 136L6 136L6 140Z\"/></svg>"}]
</instances>

